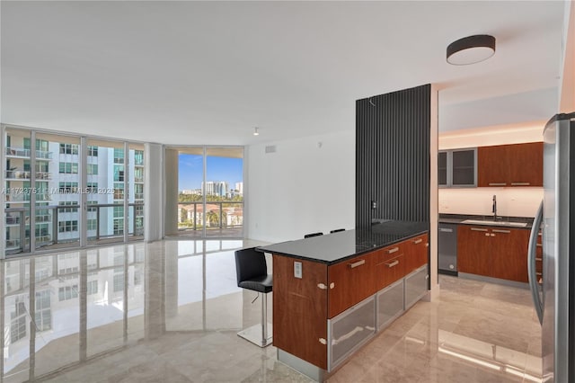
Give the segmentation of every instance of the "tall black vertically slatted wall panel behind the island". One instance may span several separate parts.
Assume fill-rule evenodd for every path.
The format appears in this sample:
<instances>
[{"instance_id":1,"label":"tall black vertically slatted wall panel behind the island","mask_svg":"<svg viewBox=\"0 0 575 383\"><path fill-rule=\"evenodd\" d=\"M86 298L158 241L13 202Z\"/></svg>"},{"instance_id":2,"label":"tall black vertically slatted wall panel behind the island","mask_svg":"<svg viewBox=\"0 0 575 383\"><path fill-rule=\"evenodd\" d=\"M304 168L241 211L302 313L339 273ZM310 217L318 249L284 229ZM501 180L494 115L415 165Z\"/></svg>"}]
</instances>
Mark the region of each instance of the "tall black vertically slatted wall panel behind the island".
<instances>
[{"instance_id":1,"label":"tall black vertically slatted wall panel behind the island","mask_svg":"<svg viewBox=\"0 0 575 383\"><path fill-rule=\"evenodd\" d=\"M422 85L356 102L357 227L429 222L430 94Z\"/></svg>"}]
</instances>

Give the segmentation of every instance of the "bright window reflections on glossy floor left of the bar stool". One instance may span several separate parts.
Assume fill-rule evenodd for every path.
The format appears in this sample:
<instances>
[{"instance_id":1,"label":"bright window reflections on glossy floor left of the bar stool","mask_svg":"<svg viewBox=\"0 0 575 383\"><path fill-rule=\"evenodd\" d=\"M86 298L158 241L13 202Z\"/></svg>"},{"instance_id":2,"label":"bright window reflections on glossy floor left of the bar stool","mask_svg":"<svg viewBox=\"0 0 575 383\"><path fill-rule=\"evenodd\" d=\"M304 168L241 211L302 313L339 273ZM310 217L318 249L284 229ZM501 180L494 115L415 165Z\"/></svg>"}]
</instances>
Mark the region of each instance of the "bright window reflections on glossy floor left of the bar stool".
<instances>
[{"instance_id":1,"label":"bright window reflections on glossy floor left of the bar stool","mask_svg":"<svg viewBox=\"0 0 575 383\"><path fill-rule=\"evenodd\" d=\"M166 331L241 328L242 246L164 241L0 261L1 381L41 379Z\"/></svg>"}]
</instances>

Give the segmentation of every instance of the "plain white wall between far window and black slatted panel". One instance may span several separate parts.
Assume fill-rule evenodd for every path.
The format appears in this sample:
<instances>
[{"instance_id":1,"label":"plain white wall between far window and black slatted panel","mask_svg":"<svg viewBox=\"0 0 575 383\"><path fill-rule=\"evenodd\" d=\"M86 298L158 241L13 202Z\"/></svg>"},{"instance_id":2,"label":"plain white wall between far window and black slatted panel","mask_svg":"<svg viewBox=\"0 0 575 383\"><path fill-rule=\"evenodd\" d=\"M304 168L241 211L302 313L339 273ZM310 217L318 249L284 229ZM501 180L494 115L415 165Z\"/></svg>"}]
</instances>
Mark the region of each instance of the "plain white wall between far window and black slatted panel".
<instances>
[{"instance_id":1,"label":"plain white wall between far window and black slatted panel","mask_svg":"<svg viewBox=\"0 0 575 383\"><path fill-rule=\"evenodd\" d=\"M276 153L265 153L270 145ZM247 151L246 237L281 242L355 227L355 129Z\"/></svg>"}]
</instances>

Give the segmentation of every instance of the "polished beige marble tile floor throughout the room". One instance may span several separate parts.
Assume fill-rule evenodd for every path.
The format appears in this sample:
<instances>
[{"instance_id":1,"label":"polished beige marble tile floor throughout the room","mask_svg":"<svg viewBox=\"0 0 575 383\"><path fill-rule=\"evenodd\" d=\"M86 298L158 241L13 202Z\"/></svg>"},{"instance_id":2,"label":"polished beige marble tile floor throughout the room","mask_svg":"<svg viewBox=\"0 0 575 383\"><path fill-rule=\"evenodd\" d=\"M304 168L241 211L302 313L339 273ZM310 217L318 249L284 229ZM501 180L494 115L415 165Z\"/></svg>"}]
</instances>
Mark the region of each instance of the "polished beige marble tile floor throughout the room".
<instances>
[{"instance_id":1,"label":"polished beige marble tile floor throughout the room","mask_svg":"<svg viewBox=\"0 0 575 383\"><path fill-rule=\"evenodd\" d=\"M77 316L61 313L69 313L82 299L67 299L65 303L70 306L57 307L60 301L54 298L51 330L41 337L36 331L35 338L31 334L22 338L18 342L26 343L21 350L15 344L4 344L1 383L30 377L49 382L110 383L311 381L277 361L273 346L261 349L236 335L260 318L259 301L252 304L255 294L235 286L234 248L251 245L259 244L163 241L115 246L111 254L98 250L92 257L99 258L101 271L94 269L92 280L108 286L98 290L103 297L91 300L88 295L87 307L75 308L75 313L80 312ZM77 253L82 259L82 252ZM126 272L121 274L128 289L123 290L123 298L110 302L119 267L103 265L114 255L118 264L120 253L133 254L126 256ZM84 264L93 264L89 254L87 258ZM62 262L69 263L70 259L74 260L74 255L67 254L67 261ZM59 261L50 260L52 264ZM28 262L18 267L7 267L4 261L0 264L5 272L26 270L31 267L31 260ZM41 262L32 263L38 272ZM135 278L138 272L142 281ZM87 278L91 281L90 275ZM59 285L53 289L61 297L60 288L62 284L66 287L67 280L60 277L57 281ZM527 289L447 276L440 276L439 282L437 301L420 301L411 307L337 370L329 382L541 380L541 327ZM41 290L39 286L33 287L36 293ZM66 294L67 289L63 291ZM78 292L81 296L82 291ZM4 288L4 334L14 329L14 294ZM106 311L110 306L115 311ZM122 311L127 315L119 315ZM55 333L65 322L77 324L70 325L69 331L59 330L60 335L50 341L49 332ZM31 344L36 349L33 357L25 354ZM21 361L10 363L18 352Z\"/></svg>"}]
</instances>

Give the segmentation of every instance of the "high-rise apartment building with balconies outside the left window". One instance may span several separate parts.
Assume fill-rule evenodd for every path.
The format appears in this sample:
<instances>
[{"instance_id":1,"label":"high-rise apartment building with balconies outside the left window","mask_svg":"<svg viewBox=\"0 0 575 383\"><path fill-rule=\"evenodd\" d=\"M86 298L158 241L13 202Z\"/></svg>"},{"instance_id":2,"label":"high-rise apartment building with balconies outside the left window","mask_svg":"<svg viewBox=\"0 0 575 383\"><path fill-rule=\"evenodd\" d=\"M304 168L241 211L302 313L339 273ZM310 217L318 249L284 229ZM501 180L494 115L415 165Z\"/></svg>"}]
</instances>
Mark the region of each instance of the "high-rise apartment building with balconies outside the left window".
<instances>
[{"instance_id":1,"label":"high-rise apartment building with balconies outside the left window","mask_svg":"<svg viewBox=\"0 0 575 383\"><path fill-rule=\"evenodd\" d=\"M30 247L35 237L37 248L79 240L81 194L87 194L86 232L89 240L124 235L124 150L88 146L86 185L80 181L78 144L36 138L35 144L25 132L6 132L5 250L19 253ZM31 153L35 147L35 167ZM34 188L31 188L32 171ZM134 205L128 233L143 234L144 225L144 152L128 151L128 202ZM31 194L35 195L34 227L31 227ZM114 204L110 207L106 205ZM103 206L102 206L103 205ZM23 225L21 225L23 221Z\"/></svg>"}]
</instances>

